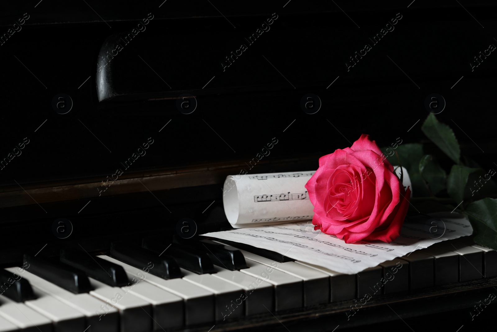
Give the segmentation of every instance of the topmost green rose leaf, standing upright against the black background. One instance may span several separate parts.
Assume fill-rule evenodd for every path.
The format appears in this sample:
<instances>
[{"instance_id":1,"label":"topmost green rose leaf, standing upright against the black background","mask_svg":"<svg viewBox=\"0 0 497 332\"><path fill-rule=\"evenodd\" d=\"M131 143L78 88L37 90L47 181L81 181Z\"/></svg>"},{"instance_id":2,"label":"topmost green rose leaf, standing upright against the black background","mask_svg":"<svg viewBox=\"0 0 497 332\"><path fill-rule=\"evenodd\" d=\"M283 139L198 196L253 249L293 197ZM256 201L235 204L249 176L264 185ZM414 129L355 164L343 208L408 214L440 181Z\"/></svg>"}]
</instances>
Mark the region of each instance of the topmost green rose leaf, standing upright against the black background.
<instances>
[{"instance_id":1,"label":"topmost green rose leaf, standing upright against the black background","mask_svg":"<svg viewBox=\"0 0 497 332\"><path fill-rule=\"evenodd\" d=\"M454 131L448 125L438 122L435 115L429 114L421 126L421 130L450 159L454 160L456 164L459 163L461 149Z\"/></svg>"}]
</instances>

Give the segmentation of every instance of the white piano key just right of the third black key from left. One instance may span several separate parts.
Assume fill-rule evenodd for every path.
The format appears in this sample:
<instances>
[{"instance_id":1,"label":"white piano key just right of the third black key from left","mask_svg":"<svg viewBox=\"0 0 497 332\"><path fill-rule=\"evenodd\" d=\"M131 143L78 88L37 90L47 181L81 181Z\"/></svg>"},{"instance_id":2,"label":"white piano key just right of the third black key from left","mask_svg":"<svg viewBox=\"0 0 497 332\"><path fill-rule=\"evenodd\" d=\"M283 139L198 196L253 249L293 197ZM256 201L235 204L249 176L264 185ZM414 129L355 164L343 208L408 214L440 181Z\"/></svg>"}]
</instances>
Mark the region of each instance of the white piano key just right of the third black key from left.
<instances>
[{"instance_id":1,"label":"white piano key just right of the third black key from left","mask_svg":"<svg viewBox=\"0 0 497 332\"><path fill-rule=\"evenodd\" d=\"M98 257L106 259L109 256L100 255ZM123 264L117 259L114 259L112 262L121 266ZM127 271L126 273L130 280L135 277ZM146 279L148 274L142 272L140 276ZM153 330L175 329L183 326L183 299L179 296L143 281L136 283L129 289L131 294L136 295L152 305Z\"/></svg>"}]
</instances>

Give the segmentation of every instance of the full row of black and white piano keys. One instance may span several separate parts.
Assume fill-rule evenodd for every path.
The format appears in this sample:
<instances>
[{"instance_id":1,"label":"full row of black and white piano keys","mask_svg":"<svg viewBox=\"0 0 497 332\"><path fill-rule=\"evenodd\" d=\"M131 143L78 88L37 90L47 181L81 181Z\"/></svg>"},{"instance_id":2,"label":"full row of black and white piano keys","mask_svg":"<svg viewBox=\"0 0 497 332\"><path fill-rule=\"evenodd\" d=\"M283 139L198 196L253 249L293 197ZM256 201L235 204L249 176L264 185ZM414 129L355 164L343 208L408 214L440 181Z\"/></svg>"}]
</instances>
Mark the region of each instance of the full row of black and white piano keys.
<instances>
[{"instance_id":1,"label":"full row of black and white piano keys","mask_svg":"<svg viewBox=\"0 0 497 332\"><path fill-rule=\"evenodd\" d=\"M152 250L115 243L107 255L75 249L63 250L60 261L25 255L24 270L0 273L0 332L181 330L497 276L497 252L464 239L358 275L209 240L149 238L144 247Z\"/></svg>"}]
</instances>

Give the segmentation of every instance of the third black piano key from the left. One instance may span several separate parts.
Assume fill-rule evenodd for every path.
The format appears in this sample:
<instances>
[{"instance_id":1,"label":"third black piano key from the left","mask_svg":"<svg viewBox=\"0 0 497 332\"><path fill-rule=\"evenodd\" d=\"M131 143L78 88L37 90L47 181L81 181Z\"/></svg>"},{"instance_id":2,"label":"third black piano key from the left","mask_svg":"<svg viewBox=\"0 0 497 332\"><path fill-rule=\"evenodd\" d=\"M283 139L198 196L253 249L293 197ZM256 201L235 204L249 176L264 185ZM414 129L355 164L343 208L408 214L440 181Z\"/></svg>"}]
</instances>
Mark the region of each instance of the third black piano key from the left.
<instances>
[{"instance_id":1,"label":"third black piano key from the left","mask_svg":"<svg viewBox=\"0 0 497 332\"><path fill-rule=\"evenodd\" d=\"M61 262L83 270L88 276L109 286L124 287L129 284L128 276L122 266L100 257L94 257L78 249L62 249Z\"/></svg>"}]
</instances>

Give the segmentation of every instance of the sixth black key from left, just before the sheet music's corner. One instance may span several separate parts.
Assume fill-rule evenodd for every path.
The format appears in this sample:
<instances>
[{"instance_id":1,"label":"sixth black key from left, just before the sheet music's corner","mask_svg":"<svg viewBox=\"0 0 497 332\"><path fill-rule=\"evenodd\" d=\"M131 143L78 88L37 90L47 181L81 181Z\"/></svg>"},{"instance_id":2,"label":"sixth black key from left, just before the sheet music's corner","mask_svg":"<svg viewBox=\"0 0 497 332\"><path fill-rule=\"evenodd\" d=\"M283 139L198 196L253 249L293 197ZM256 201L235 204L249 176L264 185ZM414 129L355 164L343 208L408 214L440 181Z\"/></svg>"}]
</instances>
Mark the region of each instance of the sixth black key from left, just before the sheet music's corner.
<instances>
[{"instance_id":1,"label":"sixth black key from left, just before the sheet music's corner","mask_svg":"<svg viewBox=\"0 0 497 332\"><path fill-rule=\"evenodd\" d=\"M242 252L232 246L217 243L209 239L197 241L183 239L180 236L174 236L174 242L206 251L212 263L228 270L235 271L247 268L247 263Z\"/></svg>"}]
</instances>

